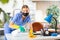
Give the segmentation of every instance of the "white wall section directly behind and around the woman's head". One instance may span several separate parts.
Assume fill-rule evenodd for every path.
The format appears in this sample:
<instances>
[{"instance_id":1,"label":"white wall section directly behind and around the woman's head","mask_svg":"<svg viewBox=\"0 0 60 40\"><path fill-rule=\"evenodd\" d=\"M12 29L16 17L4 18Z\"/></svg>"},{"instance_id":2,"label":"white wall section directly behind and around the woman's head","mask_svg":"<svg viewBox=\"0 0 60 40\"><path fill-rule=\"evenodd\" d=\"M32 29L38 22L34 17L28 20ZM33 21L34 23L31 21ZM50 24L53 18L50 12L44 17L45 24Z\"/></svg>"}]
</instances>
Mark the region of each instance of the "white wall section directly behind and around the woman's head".
<instances>
[{"instance_id":1,"label":"white wall section directly behind and around the woman's head","mask_svg":"<svg viewBox=\"0 0 60 40\"><path fill-rule=\"evenodd\" d=\"M36 5L31 0L24 0L24 2L23 0L9 0L7 4L2 4L0 2L0 8L2 8L6 13L11 13L10 16L14 16L16 13L18 13L15 13L15 11L20 11L23 4L29 6L31 19L34 20Z\"/></svg>"}]
</instances>

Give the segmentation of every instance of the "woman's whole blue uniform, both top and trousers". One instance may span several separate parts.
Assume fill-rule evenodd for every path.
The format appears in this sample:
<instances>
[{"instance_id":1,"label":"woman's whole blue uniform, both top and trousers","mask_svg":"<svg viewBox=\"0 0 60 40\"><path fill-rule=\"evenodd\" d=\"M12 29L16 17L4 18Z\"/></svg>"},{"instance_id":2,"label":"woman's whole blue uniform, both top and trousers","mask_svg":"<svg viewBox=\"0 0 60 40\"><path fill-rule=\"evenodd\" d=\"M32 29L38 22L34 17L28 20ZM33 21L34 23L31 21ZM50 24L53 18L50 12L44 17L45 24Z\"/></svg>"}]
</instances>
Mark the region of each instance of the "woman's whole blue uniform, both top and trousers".
<instances>
[{"instance_id":1,"label":"woman's whole blue uniform, both top and trousers","mask_svg":"<svg viewBox=\"0 0 60 40\"><path fill-rule=\"evenodd\" d=\"M16 25L23 26L24 24L31 22L30 16L28 15L24 20L22 20L22 13L17 13L10 22L13 22ZM4 34L11 33L14 29L9 28L9 23L4 24ZM5 39L6 40L6 39Z\"/></svg>"}]
</instances>

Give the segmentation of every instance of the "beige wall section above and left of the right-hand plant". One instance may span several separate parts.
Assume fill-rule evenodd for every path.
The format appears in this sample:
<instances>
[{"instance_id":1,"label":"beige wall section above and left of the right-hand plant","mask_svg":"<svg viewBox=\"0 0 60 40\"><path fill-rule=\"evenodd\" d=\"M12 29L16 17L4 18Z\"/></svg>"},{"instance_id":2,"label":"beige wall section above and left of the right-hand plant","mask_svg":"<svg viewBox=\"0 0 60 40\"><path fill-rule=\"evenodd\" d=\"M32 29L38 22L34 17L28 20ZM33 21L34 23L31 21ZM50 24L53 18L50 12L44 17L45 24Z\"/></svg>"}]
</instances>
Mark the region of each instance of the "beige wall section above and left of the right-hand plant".
<instances>
[{"instance_id":1,"label":"beige wall section above and left of the right-hand plant","mask_svg":"<svg viewBox=\"0 0 60 40\"><path fill-rule=\"evenodd\" d=\"M46 17L46 9L49 6L51 6L51 5L57 5L60 8L60 1L35 1L35 3L36 3L36 10L42 11L42 15L44 17ZM60 17L58 19L60 21Z\"/></svg>"}]
</instances>

